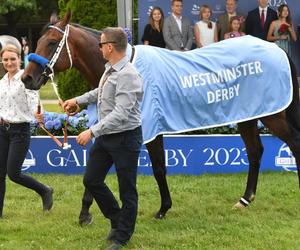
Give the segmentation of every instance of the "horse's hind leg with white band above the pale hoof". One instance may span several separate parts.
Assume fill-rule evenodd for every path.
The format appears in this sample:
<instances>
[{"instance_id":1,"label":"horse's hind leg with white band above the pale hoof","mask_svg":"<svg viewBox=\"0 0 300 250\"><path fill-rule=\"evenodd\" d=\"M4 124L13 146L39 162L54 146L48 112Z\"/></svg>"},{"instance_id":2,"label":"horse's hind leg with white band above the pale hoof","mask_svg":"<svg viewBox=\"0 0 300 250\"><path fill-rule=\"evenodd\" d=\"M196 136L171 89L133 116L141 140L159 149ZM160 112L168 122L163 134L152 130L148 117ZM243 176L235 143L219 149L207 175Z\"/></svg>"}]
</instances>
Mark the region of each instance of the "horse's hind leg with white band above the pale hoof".
<instances>
[{"instance_id":1,"label":"horse's hind leg with white band above the pale hoof","mask_svg":"<svg viewBox=\"0 0 300 250\"><path fill-rule=\"evenodd\" d=\"M264 149L257 129L257 120L239 123L238 128L245 143L249 161L245 193L239 202L234 205L235 208L243 208L248 206L255 198L260 160Z\"/></svg>"}]
</instances>

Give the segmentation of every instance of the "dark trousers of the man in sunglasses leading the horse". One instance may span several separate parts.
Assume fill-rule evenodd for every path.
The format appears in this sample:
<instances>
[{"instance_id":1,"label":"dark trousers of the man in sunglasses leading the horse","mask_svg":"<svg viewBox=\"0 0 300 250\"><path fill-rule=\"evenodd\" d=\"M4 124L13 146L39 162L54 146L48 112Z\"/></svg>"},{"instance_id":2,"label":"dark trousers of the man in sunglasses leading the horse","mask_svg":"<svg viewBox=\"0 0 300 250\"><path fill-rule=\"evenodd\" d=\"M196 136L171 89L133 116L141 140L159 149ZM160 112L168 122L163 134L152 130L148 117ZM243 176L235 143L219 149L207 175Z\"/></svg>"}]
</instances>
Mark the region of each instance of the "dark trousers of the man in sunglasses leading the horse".
<instances>
[{"instance_id":1,"label":"dark trousers of the man in sunglasses leading the horse","mask_svg":"<svg viewBox=\"0 0 300 250\"><path fill-rule=\"evenodd\" d=\"M89 152L83 183L92 193L103 215L117 229L116 241L125 244L134 232L138 194L136 190L137 163L142 145L142 130L137 127L96 138ZM122 208L104 183L115 164Z\"/></svg>"}]
</instances>

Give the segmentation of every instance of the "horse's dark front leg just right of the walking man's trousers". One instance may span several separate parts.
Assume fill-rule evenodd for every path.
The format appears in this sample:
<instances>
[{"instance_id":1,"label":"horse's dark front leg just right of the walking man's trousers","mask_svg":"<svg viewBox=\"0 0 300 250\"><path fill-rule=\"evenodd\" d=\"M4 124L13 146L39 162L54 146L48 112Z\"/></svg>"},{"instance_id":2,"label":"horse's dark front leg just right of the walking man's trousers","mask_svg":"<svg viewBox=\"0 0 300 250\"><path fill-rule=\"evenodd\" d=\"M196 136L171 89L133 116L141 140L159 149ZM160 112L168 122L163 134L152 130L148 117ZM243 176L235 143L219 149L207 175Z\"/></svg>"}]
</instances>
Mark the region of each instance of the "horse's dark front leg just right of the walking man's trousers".
<instances>
[{"instance_id":1,"label":"horse's dark front leg just right of the walking man's trousers","mask_svg":"<svg viewBox=\"0 0 300 250\"><path fill-rule=\"evenodd\" d=\"M152 163L153 174L159 187L161 206L156 213L156 219L162 219L167 211L172 207L172 199L166 179L166 165L163 136L157 136L153 141L146 144Z\"/></svg>"}]
</instances>

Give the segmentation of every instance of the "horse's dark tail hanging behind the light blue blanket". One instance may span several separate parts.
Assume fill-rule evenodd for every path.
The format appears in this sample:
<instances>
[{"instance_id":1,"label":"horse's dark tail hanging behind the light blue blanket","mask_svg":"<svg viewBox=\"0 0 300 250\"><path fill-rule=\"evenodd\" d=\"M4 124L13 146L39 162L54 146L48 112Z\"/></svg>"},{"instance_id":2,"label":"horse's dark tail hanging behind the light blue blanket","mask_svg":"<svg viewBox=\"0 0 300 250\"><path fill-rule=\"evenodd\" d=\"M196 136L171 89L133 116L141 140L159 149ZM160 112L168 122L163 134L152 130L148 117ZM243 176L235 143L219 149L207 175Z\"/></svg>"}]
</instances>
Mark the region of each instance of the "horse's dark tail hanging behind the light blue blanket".
<instances>
[{"instance_id":1,"label":"horse's dark tail hanging behind the light blue blanket","mask_svg":"<svg viewBox=\"0 0 300 250\"><path fill-rule=\"evenodd\" d=\"M297 70L296 66L288 57L290 67L291 67L291 74L292 74L292 81L293 81L293 100L286 109L286 117L287 121L293 130L296 132L295 135L300 138L300 105L299 105L299 84L297 79Z\"/></svg>"}]
</instances>

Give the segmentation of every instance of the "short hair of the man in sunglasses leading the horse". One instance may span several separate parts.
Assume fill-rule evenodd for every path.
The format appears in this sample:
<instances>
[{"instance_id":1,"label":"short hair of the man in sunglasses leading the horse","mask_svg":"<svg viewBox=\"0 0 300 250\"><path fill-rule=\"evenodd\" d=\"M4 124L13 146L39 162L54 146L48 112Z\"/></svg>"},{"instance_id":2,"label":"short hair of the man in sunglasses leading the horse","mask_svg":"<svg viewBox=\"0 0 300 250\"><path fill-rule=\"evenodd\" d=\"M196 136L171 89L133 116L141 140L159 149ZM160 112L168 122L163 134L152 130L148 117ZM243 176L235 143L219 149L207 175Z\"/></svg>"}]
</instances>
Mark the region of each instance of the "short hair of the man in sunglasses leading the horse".
<instances>
[{"instance_id":1,"label":"short hair of the man in sunglasses leading the horse","mask_svg":"<svg viewBox=\"0 0 300 250\"><path fill-rule=\"evenodd\" d=\"M127 48L127 34L121 27L107 27L102 31L105 35L106 41L112 42L116 51L125 51Z\"/></svg>"}]
</instances>

